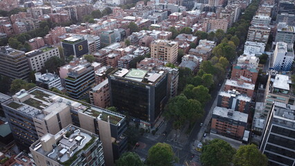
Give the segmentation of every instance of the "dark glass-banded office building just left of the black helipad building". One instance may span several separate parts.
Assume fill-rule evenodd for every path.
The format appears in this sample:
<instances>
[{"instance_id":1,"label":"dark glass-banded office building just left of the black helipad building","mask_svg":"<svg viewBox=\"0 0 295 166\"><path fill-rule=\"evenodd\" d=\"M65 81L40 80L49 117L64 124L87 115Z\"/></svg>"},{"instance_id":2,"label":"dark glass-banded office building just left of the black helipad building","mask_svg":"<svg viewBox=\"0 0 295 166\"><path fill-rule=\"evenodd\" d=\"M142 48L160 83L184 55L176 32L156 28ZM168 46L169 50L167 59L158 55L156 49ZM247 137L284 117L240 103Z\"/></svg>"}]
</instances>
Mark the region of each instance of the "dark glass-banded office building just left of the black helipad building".
<instances>
[{"instance_id":1,"label":"dark glass-banded office building just left of the black helipad building","mask_svg":"<svg viewBox=\"0 0 295 166\"><path fill-rule=\"evenodd\" d=\"M93 66L87 60L73 65L74 67L69 68L69 73L66 74L68 76L64 79L66 92L71 98L79 100L87 98L89 90L95 82Z\"/></svg>"}]
</instances>

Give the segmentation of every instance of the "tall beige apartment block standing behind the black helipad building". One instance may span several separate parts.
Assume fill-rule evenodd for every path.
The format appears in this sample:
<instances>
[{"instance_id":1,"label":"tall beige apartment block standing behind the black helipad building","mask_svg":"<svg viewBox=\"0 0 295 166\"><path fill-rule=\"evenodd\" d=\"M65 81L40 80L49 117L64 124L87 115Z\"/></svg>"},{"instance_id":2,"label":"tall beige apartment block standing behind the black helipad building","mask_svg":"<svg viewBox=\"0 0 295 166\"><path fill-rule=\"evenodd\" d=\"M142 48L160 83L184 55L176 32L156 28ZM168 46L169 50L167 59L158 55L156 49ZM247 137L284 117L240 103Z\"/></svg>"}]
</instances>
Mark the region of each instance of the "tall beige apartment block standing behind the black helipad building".
<instances>
[{"instance_id":1,"label":"tall beige apartment block standing behind the black helipad building","mask_svg":"<svg viewBox=\"0 0 295 166\"><path fill-rule=\"evenodd\" d=\"M150 45L151 57L174 64L177 61L178 43L170 40L156 40Z\"/></svg>"}]
</instances>

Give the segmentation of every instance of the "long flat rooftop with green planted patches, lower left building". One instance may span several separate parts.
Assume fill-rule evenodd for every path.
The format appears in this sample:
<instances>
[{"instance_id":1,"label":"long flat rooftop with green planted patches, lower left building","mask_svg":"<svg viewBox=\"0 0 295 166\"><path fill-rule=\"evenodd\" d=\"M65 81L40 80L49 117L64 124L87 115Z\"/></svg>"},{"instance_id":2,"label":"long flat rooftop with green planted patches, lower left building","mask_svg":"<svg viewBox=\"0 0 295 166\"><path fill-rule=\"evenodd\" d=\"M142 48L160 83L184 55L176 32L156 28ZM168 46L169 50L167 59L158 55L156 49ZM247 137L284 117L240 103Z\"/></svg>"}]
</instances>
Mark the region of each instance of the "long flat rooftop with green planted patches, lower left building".
<instances>
[{"instance_id":1,"label":"long flat rooftop with green planted patches, lower left building","mask_svg":"<svg viewBox=\"0 0 295 166\"><path fill-rule=\"evenodd\" d=\"M107 116L109 116L110 122L115 125L125 118L125 116L120 113L102 109L86 102L74 100L67 96L53 93L39 87L30 89L30 91L17 93L17 95L12 96L12 98L12 101L7 101L3 104L40 120L46 120L67 107L73 111L93 116L93 118L97 118L102 114L103 118L101 118L101 120L104 120L105 122L107 122ZM23 102L18 102L18 100L22 99L24 99Z\"/></svg>"}]
</instances>

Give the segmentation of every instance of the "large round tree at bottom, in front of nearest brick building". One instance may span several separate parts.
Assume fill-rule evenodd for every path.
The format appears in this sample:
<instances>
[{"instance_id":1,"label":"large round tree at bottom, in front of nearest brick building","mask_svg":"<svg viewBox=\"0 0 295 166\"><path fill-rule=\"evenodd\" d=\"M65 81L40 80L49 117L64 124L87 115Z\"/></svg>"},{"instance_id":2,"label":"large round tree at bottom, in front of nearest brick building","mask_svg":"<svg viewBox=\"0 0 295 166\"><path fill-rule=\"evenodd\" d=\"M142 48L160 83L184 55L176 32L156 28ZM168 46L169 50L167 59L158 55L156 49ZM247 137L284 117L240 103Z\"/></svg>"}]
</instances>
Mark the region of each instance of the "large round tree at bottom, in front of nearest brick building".
<instances>
[{"instance_id":1,"label":"large round tree at bottom, in front of nearest brick building","mask_svg":"<svg viewBox=\"0 0 295 166\"><path fill-rule=\"evenodd\" d=\"M202 148L201 162L205 166L228 166L235 154L235 149L228 142L220 139L210 140Z\"/></svg>"}]
</instances>

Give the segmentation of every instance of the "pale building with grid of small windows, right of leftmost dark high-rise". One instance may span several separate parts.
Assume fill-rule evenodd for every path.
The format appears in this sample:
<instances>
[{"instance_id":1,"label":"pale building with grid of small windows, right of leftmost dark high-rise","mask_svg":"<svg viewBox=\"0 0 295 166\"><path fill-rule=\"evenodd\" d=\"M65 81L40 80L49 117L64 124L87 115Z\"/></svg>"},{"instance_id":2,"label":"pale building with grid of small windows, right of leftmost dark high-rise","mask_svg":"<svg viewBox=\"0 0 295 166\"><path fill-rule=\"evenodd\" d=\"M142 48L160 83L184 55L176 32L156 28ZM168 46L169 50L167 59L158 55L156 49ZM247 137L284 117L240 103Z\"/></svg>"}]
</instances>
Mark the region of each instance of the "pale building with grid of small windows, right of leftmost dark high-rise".
<instances>
[{"instance_id":1,"label":"pale building with grid of small windows, right of leftmost dark high-rise","mask_svg":"<svg viewBox=\"0 0 295 166\"><path fill-rule=\"evenodd\" d=\"M53 46L45 46L26 53L28 65L32 71L41 71L41 69L45 67L45 62L54 56L60 57L60 52L57 47Z\"/></svg>"}]
</instances>

